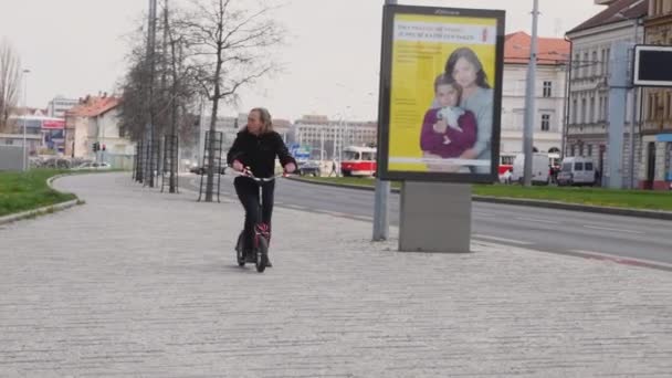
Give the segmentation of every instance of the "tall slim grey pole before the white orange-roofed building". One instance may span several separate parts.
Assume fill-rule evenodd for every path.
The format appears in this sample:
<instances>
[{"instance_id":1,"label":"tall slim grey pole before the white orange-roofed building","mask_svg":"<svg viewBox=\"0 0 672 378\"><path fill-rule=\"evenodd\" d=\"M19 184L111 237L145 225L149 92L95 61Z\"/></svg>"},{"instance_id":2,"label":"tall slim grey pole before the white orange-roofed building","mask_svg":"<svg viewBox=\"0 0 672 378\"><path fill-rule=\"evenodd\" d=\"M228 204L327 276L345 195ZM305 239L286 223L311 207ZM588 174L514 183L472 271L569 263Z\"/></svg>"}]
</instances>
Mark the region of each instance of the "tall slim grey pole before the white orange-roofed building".
<instances>
[{"instance_id":1,"label":"tall slim grey pole before the white orange-roofed building","mask_svg":"<svg viewBox=\"0 0 672 378\"><path fill-rule=\"evenodd\" d=\"M532 155L534 140L534 122L536 115L535 90L537 81L537 29L539 20L539 0L534 0L532 11L532 41L529 46L529 65L527 67L527 90L525 91L525 135L523 154L525 154L524 183L532 186Z\"/></svg>"}]
</instances>

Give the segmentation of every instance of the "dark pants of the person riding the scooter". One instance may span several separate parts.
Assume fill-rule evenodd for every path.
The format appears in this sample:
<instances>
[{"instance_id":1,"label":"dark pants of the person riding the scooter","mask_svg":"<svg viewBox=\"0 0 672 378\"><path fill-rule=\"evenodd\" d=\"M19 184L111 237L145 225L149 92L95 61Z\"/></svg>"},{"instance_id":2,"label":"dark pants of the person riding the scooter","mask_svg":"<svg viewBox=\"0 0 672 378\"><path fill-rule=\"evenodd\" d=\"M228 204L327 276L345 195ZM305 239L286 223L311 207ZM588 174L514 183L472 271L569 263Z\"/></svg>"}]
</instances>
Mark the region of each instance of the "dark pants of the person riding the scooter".
<instances>
[{"instance_id":1,"label":"dark pants of the person riding the scooter","mask_svg":"<svg viewBox=\"0 0 672 378\"><path fill-rule=\"evenodd\" d=\"M251 249L254 241L254 224L266 223L269 231L271 230L271 216L273 214L273 190L275 189L275 181L263 182L262 196L264 207L262 209L261 219L259 213L259 185L256 181L245 177L237 177L233 180L235 187L235 193L245 209L245 250Z\"/></svg>"}]
</instances>

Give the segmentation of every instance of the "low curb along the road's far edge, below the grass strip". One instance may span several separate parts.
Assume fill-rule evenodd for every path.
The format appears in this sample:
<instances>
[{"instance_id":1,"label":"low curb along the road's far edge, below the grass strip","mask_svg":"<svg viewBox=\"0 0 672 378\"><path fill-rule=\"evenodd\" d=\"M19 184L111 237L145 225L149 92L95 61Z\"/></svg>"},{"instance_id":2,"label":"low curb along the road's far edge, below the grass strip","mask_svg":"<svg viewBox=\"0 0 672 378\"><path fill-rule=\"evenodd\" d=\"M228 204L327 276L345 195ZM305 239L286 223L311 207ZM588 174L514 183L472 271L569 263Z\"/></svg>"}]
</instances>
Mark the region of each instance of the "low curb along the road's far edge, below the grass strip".
<instances>
[{"instance_id":1,"label":"low curb along the road's far edge, below the grass strip","mask_svg":"<svg viewBox=\"0 0 672 378\"><path fill-rule=\"evenodd\" d=\"M340 187L347 189L357 189L357 190L368 190L375 191L374 187L365 187L358 185L349 185L349 183L330 183L330 182L319 182L312 181L302 178L292 177L291 180L319 185L326 187ZM393 193L399 193L399 189L392 189ZM589 206L589 204L577 204L577 203L565 203L565 202L555 202L555 201L542 201L542 200L532 200L532 199L518 199L518 198L510 198L510 197L489 197L489 196L472 196L472 200L475 202L486 202L486 203L501 203L501 204L515 204L515 206L527 206L533 208L545 208L545 209L557 209L557 210L570 210L570 211L581 211L581 212L592 212L600 214L609 214L609 216L624 216L624 217L636 217L636 218L647 218L647 219L658 219L658 220L672 220L672 211L655 211L655 210L637 210L637 209L624 209L624 208L607 208L599 206Z\"/></svg>"}]
</instances>

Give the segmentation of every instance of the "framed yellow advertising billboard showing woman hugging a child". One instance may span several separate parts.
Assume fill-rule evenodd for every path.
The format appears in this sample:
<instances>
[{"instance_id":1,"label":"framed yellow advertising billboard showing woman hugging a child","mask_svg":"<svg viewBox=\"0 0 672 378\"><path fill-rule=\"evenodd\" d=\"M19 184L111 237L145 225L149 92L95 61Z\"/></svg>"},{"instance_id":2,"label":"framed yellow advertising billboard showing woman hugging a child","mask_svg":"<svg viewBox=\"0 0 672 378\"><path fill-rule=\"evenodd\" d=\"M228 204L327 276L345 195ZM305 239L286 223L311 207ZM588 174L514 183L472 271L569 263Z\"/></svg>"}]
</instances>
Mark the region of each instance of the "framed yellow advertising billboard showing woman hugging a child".
<instances>
[{"instance_id":1,"label":"framed yellow advertising billboard showing woman hugging a child","mask_svg":"<svg viewBox=\"0 0 672 378\"><path fill-rule=\"evenodd\" d=\"M386 6L385 180L497 180L504 11Z\"/></svg>"}]
</instances>

